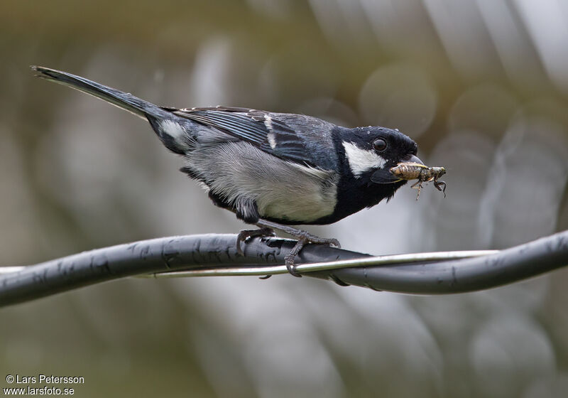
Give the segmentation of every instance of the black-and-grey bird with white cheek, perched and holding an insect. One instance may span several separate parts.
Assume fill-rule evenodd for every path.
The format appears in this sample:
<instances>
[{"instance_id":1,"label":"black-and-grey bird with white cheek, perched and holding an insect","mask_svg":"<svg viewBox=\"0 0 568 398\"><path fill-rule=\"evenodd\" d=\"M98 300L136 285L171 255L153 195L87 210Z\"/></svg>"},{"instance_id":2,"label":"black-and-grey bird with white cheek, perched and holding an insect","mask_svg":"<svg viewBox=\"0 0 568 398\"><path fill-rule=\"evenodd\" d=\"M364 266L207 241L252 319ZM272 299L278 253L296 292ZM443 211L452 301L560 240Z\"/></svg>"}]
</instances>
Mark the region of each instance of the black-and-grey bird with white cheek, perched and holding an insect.
<instances>
[{"instance_id":1,"label":"black-and-grey bird with white cheek, perched and holding an insect","mask_svg":"<svg viewBox=\"0 0 568 398\"><path fill-rule=\"evenodd\" d=\"M259 227L239 233L240 254L251 237L274 236L274 230L295 237L285 256L294 276L300 276L294 261L305 244L340 247L336 239L294 226L331 224L388 201L407 182L390 169L423 164L416 142L398 129L341 127L304 114L246 107L160 107L69 72L31 68L38 77L149 122L162 144L184 158L180 171L200 183L214 205Z\"/></svg>"}]
</instances>

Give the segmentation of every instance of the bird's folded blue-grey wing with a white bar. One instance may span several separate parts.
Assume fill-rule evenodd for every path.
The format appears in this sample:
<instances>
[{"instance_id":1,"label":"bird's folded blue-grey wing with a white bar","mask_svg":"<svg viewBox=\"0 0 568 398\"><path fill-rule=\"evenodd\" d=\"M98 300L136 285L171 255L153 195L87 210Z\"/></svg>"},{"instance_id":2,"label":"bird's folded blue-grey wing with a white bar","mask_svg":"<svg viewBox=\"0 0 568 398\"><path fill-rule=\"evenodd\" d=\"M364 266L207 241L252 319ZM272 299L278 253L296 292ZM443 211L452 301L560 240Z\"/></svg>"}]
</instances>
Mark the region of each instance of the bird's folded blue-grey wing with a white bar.
<instances>
[{"instance_id":1,"label":"bird's folded blue-grey wing with a white bar","mask_svg":"<svg viewBox=\"0 0 568 398\"><path fill-rule=\"evenodd\" d=\"M278 114L234 107L172 109L172 112L247 141L268 154L312 165L304 139L285 124Z\"/></svg>"}]
</instances>

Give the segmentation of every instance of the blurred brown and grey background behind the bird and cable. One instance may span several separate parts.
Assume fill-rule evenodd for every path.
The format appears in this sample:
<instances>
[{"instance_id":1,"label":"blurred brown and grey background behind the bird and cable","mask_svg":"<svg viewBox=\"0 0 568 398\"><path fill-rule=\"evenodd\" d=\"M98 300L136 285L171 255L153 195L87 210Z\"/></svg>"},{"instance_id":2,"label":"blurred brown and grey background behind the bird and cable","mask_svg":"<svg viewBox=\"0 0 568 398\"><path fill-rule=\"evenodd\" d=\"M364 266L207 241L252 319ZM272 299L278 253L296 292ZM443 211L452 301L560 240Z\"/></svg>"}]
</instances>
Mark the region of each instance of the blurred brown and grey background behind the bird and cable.
<instances>
[{"instance_id":1,"label":"blurred brown and grey background behind the bird and cable","mask_svg":"<svg viewBox=\"0 0 568 398\"><path fill-rule=\"evenodd\" d=\"M141 119L33 77L67 70L177 107L398 128L447 198L310 231L371 254L501 249L568 227L568 3L0 4L0 265L237 232ZM454 296L275 276L114 281L0 311L4 375L78 397L565 397L568 271Z\"/></svg>"}]
</instances>

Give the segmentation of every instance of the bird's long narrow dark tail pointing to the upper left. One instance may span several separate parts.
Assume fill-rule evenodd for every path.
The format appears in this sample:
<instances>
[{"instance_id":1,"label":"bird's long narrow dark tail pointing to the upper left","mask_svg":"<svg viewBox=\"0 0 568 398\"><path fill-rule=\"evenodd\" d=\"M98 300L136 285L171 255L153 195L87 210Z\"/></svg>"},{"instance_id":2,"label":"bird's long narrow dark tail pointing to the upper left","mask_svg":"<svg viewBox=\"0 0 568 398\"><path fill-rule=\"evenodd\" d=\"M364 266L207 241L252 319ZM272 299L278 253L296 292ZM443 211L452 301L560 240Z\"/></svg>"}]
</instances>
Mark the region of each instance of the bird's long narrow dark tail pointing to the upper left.
<instances>
[{"instance_id":1,"label":"bird's long narrow dark tail pointing to the upper left","mask_svg":"<svg viewBox=\"0 0 568 398\"><path fill-rule=\"evenodd\" d=\"M171 113L165 109L151 102L134 97L129 92L114 90L114 88L99 85L99 83L85 79L84 77L72 75L71 73L62 72L60 70L43 68L43 66L32 66L31 68L35 70L35 72L38 72L39 77L104 99L104 101L136 114L136 116L142 117L143 119L147 119L148 117L171 117Z\"/></svg>"}]
</instances>

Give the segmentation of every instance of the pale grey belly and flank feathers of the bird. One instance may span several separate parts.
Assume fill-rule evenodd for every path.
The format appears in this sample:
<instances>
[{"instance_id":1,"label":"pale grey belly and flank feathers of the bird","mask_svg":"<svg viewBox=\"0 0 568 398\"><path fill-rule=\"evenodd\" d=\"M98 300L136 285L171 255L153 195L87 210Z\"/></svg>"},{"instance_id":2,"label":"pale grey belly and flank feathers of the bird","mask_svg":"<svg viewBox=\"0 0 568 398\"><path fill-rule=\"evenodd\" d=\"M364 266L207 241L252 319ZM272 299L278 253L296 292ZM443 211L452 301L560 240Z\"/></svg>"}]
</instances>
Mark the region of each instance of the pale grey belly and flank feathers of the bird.
<instances>
[{"instance_id":1,"label":"pale grey belly and flank feathers of the bird","mask_svg":"<svg viewBox=\"0 0 568 398\"><path fill-rule=\"evenodd\" d=\"M261 217L302 222L334 211L335 172L283 161L245 142L198 148L186 159L209 189L234 208L251 198Z\"/></svg>"}]
</instances>

